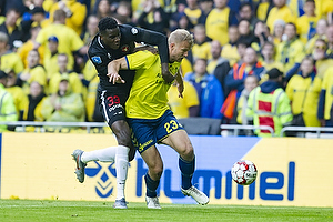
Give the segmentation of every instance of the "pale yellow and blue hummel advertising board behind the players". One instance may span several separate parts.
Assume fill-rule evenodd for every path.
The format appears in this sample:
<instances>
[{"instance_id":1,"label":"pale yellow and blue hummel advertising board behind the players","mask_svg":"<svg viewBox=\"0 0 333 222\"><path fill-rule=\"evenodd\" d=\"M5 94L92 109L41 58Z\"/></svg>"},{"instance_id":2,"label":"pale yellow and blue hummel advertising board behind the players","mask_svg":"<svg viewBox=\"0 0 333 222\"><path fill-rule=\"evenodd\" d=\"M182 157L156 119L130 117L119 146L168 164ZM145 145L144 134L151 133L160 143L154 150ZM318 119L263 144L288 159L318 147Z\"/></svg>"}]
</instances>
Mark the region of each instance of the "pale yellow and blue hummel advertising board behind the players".
<instances>
[{"instance_id":1,"label":"pale yellow and blue hummel advertising board behind the players","mask_svg":"<svg viewBox=\"0 0 333 222\"><path fill-rule=\"evenodd\" d=\"M90 162L84 183L75 179L74 149L91 151L117 145L112 134L2 133L1 199L114 201L113 163ZM333 206L333 140L299 138L190 137L196 157L193 184L211 204ZM164 172L162 203L195 203L180 191L178 154L159 145ZM232 164L246 159L259 174L250 186L232 181ZM137 153L130 163L127 201L144 202L148 168ZM129 205L130 206L130 205Z\"/></svg>"}]
</instances>

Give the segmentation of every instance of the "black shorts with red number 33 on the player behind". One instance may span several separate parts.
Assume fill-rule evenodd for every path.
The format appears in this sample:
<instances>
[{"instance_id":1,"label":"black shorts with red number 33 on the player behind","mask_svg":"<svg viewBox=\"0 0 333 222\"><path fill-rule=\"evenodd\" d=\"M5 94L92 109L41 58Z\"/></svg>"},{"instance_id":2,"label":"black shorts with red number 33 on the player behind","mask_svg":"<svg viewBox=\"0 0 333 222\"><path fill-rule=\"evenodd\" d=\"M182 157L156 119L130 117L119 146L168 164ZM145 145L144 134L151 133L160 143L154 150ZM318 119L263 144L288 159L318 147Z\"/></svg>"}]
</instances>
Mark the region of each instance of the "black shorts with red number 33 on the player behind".
<instances>
[{"instance_id":1,"label":"black shorts with red number 33 on the player behind","mask_svg":"<svg viewBox=\"0 0 333 222\"><path fill-rule=\"evenodd\" d=\"M117 93L107 90L98 90L98 93L100 111L110 128L115 121L127 120L124 103L128 99L128 93Z\"/></svg>"}]
</instances>

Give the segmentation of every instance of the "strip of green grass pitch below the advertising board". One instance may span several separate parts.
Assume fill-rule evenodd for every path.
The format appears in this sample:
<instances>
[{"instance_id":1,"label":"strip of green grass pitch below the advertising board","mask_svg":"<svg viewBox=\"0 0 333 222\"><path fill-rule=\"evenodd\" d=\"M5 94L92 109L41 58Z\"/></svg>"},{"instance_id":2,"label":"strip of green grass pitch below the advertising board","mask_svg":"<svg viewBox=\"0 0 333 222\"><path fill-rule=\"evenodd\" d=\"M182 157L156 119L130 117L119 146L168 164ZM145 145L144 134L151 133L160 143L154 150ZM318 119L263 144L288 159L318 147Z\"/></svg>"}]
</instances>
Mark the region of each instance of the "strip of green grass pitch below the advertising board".
<instances>
[{"instance_id":1,"label":"strip of green grass pitch below the advertising board","mask_svg":"<svg viewBox=\"0 0 333 222\"><path fill-rule=\"evenodd\" d=\"M162 203L162 210L152 210L147 209L145 203L129 203L127 210L114 210L112 204L113 202L91 201L0 200L0 221L333 221L332 208Z\"/></svg>"}]
</instances>

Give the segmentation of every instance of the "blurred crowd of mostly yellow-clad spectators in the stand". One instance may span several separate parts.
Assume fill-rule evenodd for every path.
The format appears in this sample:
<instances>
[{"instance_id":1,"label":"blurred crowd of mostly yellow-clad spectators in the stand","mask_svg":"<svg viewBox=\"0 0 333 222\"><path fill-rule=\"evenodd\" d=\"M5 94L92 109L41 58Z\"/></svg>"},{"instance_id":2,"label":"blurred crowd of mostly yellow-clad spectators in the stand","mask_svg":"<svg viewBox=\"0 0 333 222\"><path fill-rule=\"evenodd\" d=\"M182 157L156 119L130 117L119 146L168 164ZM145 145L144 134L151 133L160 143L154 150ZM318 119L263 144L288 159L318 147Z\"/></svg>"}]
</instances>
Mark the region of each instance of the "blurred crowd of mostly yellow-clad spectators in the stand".
<instances>
[{"instance_id":1,"label":"blurred crowd of mostly yellow-clad spectators in the stand","mask_svg":"<svg viewBox=\"0 0 333 222\"><path fill-rule=\"evenodd\" d=\"M169 91L176 118L276 134L333 125L333 0L1 0L0 10L0 121L103 121L87 51L99 20L113 17L193 33L184 98Z\"/></svg>"}]
</instances>

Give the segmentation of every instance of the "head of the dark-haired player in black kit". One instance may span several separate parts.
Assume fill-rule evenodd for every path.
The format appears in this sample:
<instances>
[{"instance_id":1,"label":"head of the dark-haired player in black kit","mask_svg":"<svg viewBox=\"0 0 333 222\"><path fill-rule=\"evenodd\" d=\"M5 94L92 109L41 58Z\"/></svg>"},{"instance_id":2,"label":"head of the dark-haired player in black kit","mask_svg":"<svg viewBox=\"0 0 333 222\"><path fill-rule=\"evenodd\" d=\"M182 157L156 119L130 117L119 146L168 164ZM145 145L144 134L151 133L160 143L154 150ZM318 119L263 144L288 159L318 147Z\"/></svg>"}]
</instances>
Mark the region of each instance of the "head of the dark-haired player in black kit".
<instances>
[{"instance_id":1,"label":"head of the dark-haired player in black kit","mask_svg":"<svg viewBox=\"0 0 333 222\"><path fill-rule=\"evenodd\" d=\"M99 32L103 43L111 48L118 49L120 47L121 33L115 19L105 17L99 22Z\"/></svg>"}]
</instances>

